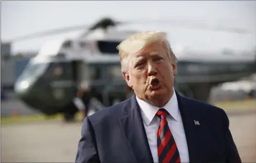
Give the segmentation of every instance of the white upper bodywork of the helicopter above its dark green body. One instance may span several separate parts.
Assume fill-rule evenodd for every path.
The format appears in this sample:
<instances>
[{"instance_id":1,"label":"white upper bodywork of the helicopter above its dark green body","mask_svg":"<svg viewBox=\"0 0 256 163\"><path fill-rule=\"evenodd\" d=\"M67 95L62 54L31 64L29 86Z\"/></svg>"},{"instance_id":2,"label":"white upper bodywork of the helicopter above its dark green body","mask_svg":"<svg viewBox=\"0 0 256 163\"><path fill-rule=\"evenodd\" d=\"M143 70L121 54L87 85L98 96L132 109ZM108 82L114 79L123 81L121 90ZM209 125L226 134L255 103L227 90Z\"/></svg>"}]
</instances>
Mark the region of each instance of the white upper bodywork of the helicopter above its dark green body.
<instances>
[{"instance_id":1,"label":"white upper bodywork of the helicopter above its dark green body","mask_svg":"<svg viewBox=\"0 0 256 163\"><path fill-rule=\"evenodd\" d=\"M135 28L125 29L122 26L119 27L109 27L107 30L96 29L90 32L87 36L81 38L80 40L73 39L73 43L79 43L80 41L85 41L87 43L93 43L99 40L104 41L122 41L131 34L138 33L139 30ZM46 56L57 56L59 53L65 53L67 60L86 60L88 62L111 62L119 61L120 58L118 54L102 54L96 49L96 51L88 51L86 48L77 50L76 47L71 47L68 50L63 49L62 45L64 41L70 40L69 38L61 38L57 40L47 41L40 48L37 54L37 60L45 58ZM205 62L234 62L234 61L255 61L254 55L239 55L239 54L221 54L220 51L192 51L190 49L182 48L179 46L172 47L178 61L205 61ZM210 54L211 53L211 54ZM44 57L43 57L44 56Z\"/></svg>"}]
</instances>

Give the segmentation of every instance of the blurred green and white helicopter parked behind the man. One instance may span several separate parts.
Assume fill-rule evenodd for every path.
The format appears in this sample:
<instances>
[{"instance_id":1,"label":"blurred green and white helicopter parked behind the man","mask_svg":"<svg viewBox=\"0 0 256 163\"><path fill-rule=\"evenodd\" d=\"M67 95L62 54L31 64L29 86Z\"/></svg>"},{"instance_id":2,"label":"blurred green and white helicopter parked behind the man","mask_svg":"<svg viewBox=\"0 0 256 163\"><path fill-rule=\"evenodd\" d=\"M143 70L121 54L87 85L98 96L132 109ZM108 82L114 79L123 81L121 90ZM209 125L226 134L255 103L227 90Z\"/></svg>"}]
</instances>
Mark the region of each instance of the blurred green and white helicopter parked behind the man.
<instances>
[{"instance_id":1,"label":"blurred green and white helicopter parked behind the man","mask_svg":"<svg viewBox=\"0 0 256 163\"><path fill-rule=\"evenodd\" d=\"M139 22L148 23L143 20ZM53 40L43 44L15 82L16 95L26 105L45 115L62 113L66 121L73 120L78 112L77 107L70 106L70 103L83 82L88 84L91 97L105 107L127 99L127 83L122 77L117 46L139 30L118 29L125 23L131 22L103 18L92 26L68 27L13 39L15 42L86 28L75 39ZM245 32L221 27L216 30ZM175 89L182 95L204 102L207 102L213 86L247 77L256 71L256 55L214 57L214 54L206 56L205 52L199 51L182 53L176 54L178 75Z\"/></svg>"}]
</instances>

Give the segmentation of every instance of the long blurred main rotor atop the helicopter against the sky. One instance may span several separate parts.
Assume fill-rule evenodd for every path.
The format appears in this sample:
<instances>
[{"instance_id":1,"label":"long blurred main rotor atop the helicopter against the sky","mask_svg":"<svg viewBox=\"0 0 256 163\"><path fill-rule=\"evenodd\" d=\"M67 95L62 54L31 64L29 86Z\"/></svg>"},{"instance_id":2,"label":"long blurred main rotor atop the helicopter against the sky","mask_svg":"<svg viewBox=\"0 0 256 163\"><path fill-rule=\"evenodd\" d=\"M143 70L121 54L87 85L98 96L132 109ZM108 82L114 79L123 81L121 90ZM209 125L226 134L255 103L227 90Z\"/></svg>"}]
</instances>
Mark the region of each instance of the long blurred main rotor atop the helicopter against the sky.
<instances>
[{"instance_id":1,"label":"long blurred main rotor atop the helicopter against the sky","mask_svg":"<svg viewBox=\"0 0 256 163\"><path fill-rule=\"evenodd\" d=\"M156 25L165 24L168 26L170 25L170 26L180 26L180 27L193 28L193 29L217 30L217 31L224 31L224 32L231 32L231 33L249 33L247 29L243 29L240 27L228 27L228 26L220 26L220 25L214 26L214 25L209 25L203 21L195 21L195 20L182 20L182 19L166 19L166 20L143 19L142 20L140 19L140 20L131 20L131 21L115 21L111 18L102 18L98 20L96 23L94 23L93 25L71 26L71 27L64 27L62 29L52 29L44 32L32 33L25 36L16 37L12 39L10 42L13 43L16 41L33 39L36 37L65 33L65 32L70 32L72 30L77 30L77 29L86 29L86 31L80 36L80 37L85 37L92 30L97 28L106 29L109 26L136 24L136 23L142 24L142 25L143 24L156 24Z\"/></svg>"}]
</instances>

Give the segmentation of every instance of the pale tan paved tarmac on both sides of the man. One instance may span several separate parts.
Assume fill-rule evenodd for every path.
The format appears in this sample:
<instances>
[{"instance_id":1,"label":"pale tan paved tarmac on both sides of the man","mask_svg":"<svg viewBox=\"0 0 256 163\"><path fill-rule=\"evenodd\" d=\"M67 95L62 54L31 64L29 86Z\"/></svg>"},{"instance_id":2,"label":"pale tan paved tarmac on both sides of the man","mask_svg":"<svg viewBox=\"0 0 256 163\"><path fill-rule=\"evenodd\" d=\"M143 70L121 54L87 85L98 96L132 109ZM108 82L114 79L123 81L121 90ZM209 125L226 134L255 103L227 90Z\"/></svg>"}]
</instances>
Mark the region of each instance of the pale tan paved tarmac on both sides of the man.
<instances>
[{"instance_id":1,"label":"pale tan paved tarmac on both sides of the man","mask_svg":"<svg viewBox=\"0 0 256 163\"><path fill-rule=\"evenodd\" d=\"M256 113L230 115L230 130L243 162L256 162ZM1 126L2 162L74 162L81 122Z\"/></svg>"}]
</instances>

